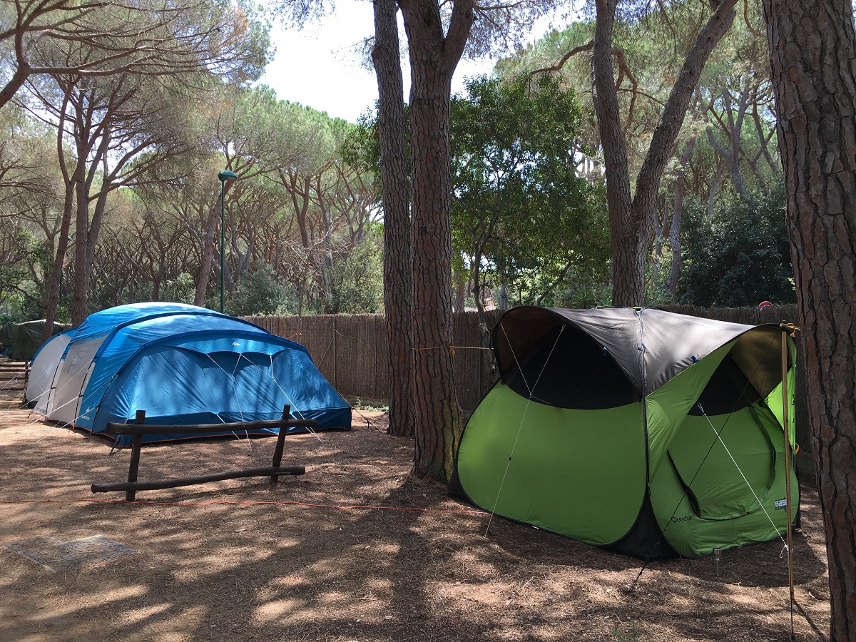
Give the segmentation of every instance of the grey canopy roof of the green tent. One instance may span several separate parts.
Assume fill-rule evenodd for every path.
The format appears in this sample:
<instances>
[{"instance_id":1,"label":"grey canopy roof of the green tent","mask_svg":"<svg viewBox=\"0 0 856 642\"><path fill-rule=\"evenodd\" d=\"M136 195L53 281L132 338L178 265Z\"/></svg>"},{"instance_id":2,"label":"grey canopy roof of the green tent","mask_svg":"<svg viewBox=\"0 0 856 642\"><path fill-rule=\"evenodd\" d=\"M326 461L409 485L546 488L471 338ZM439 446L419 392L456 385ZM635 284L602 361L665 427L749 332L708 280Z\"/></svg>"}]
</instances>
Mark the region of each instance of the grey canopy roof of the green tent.
<instances>
[{"instance_id":1,"label":"grey canopy roof of the green tent","mask_svg":"<svg viewBox=\"0 0 856 642\"><path fill-rule=\"evenodd\" d=\"M751 369L746 376L770 383L782 379L779 372L765 372L775 360L764 356L781 349L778 326L733 324L655 307L514 307L502 315L493 332L500 372L513 368L530 348L563 325L596 341L640 395L650 394L695 361L740 336L745 336L741 340L741 345L745 344L744 370ZM760 391L769 385L757 387Z\"/></svg>"}]
</instances>

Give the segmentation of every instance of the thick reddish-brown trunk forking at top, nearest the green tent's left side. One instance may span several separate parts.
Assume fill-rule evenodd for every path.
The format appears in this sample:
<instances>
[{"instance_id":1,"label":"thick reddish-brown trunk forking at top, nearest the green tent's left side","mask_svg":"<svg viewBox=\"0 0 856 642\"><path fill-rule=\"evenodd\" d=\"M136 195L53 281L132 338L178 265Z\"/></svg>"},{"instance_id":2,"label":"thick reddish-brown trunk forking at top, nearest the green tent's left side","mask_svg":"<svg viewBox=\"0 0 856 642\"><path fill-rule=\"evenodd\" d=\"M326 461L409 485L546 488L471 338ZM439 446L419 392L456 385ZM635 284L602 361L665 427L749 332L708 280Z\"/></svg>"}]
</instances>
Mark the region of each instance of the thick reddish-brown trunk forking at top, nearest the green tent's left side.
<instances>
[{"instance_id":1,"label":"thick reddish-brown trunk forking at top, nearest the green tent's left side","mask_svg":"<svg viewBox=\"0 0 856 642\"><path fill-rule=\"evenodd\" d=\"M452 74L473 25L473 5L458 0L449 33L435 0L401 0L410 51L413 159L413 472L446 482L461 437L452 372L451 175Z\"/></svg>"}]
</instances>

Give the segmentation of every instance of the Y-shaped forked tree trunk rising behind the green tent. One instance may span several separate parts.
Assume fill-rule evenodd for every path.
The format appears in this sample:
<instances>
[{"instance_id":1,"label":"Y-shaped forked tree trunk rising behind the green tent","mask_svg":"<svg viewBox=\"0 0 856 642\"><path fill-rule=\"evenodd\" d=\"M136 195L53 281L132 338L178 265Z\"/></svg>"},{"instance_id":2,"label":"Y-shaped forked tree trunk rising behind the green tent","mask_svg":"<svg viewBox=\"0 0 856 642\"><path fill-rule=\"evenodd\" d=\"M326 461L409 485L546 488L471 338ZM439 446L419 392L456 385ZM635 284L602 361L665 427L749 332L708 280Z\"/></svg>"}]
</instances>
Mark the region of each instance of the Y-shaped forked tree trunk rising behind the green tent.
<instances>
[{"instance_id":1,"label":"Y-shaped forked tree trunk rising behind the green tent","mask_svg":"<svg viewBox=\"0 0 856 642\"><path fill-rule=\"evenodd\" d=\"M636 177L636 192L631 200L627 147L621 131L621 114L612 72L615 0L597 0L591 67L597 128L606 166L609 230L612 235L612 302L615 306L639 306L645 303L645 259L651 249L660 179L672 155L704 63L734 21L735 3L736 0L722 0L698 33L693 48L681 66L675 86L669 93L660 124L651 137L651 145Z\"/></svg>"}]
</instances>

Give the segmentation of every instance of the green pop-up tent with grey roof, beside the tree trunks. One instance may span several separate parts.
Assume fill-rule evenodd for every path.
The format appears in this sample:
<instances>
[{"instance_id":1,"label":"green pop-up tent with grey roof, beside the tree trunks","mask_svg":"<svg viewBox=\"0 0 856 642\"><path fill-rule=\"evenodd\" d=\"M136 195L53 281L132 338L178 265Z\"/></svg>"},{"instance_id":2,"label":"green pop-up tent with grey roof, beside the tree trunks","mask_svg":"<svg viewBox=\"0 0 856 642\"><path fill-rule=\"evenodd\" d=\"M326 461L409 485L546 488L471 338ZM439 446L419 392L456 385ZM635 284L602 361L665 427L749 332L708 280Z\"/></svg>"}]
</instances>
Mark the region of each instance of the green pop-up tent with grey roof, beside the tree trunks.
<instances>
[{"instance_id":1,"label":"green pop-up tent with grey roof, beside the tree trunks","mask_svg":"<svg viewBox=\"0 0 856 642\"><path fill-rule=\"evenodd\" d=\"M501 378L461 436L454 494L643 559L785 532L779 326L521 306L493 349ZM791 488L795 513L793 470Z\"/></svg>"}]
</instances>

